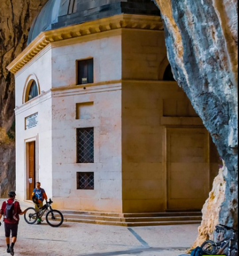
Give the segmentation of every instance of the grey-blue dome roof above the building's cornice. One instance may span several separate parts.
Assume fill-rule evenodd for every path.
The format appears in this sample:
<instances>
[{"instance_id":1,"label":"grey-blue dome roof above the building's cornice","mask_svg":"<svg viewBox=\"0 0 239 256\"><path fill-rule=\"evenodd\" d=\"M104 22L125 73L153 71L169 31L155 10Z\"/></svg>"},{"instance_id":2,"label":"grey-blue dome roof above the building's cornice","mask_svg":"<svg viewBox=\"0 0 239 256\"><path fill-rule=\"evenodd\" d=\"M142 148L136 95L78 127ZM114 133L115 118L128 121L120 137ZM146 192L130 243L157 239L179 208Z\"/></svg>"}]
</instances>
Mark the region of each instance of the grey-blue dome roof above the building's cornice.
<instances>
[{"instance_id":1,"label":"grey-blue dome roof above the building's cornice","mask_svg":"<svg viewBox=\"0 0 239 256\"><path fill-rule=\"evenodd\" d=\"M160 15L152 0L48 0L33 22L27 43L31 43L42 31L121 13Z\"/></svg>"}]
</instances>

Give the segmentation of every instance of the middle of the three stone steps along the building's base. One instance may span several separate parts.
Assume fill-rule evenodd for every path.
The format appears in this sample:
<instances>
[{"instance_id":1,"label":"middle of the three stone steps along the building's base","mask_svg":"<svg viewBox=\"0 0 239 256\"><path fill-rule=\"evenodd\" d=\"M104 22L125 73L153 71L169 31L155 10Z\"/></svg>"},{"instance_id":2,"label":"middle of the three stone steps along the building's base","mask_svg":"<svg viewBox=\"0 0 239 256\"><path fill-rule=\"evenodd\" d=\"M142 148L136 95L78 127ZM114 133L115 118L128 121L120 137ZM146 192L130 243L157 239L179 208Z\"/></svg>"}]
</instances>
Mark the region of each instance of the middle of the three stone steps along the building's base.
<instances>
[{"instance_id":1,"label":"middle of the three stone steps along the building's base","mask_svg":"<svg viewBox=\"0 0 239 256\"><path fill-rule=\"evenodd\" d=\"M97 216L84 214L66 214L66 219L94 219L98 221L120 221L120 222L149 222L149 221L201 221L201 216L167 216L167 217L114 217L114 216Z\"/></svg>"}]
</instances>

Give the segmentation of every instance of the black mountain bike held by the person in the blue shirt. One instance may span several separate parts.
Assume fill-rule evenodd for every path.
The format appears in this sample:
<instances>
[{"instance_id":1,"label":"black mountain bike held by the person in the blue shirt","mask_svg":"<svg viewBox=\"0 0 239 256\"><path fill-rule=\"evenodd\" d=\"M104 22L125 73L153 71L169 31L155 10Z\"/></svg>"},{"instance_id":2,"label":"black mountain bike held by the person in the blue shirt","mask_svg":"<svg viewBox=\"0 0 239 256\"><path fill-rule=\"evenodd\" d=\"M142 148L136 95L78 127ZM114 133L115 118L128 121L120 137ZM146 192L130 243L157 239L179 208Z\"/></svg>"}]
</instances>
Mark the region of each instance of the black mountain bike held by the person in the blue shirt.
<instances>
[{"instance_id":1,"label":"black mountain bike held by the person in the blue shirt","mask_svg":"<svg viewBox=\"0 0 239 256\"><path fill-rule=\"evenodd\" d=\"M46 212L46 222L48 225L51 227L60 227L64 221L64 217L60 211L52 209L52 203L53 201L49 199L49 201L46 201L46 204L40 207L38 211L34 207L27 208L27 211L24 214L25 221L29 224L34 224L37 219L41 219Z\"/></svg>"}]
</instances>

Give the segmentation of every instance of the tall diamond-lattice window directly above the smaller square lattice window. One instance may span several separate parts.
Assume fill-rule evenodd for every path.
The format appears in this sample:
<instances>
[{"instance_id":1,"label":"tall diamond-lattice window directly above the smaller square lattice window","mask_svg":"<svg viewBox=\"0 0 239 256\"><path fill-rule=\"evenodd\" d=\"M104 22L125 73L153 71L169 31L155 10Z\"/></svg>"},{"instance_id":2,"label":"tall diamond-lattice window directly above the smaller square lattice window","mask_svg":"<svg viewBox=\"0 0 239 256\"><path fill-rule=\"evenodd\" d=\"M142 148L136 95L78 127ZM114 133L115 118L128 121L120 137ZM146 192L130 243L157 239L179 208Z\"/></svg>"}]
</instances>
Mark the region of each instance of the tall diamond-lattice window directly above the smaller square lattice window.
<instances>
[{"instance_id":1,"label":"tall diamond-lattice window directly above the smaller square lattice window","mask_svg":"<svg viewBox=\"0 0 239 256\"><path fill-rule=\"evenodd\" d=\"M94 163L94 128L78 128L77 136L77 162Z\"/></svg>"}]
</instances>

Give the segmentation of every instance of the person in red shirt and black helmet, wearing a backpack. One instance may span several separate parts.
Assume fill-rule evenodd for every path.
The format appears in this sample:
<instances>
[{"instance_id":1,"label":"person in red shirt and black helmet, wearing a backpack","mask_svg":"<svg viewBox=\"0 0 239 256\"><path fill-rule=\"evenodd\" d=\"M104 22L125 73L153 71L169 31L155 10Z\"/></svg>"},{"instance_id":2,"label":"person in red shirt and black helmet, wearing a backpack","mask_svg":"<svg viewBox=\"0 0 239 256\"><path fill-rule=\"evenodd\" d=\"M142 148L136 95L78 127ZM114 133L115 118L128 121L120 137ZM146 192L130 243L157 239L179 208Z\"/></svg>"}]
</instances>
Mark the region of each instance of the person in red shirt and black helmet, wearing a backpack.
<instances>
[{"instance_id":1,"label":"person in red shirt and black helmet, wearing a backpack","mask_svg":"<svg viewBox=\"0 0 239 256\"><path fill-rule=\"evenodd\" d=\"M5 226L5 237L6 237L6 243L7 243L7 253L10 253L11 255L14 255L13 247L17 241L17 229L19 224L19 215L23 215L25 211L21 210L19 201L15 201L16 193L14 191L9 192L9 199L7 200L7 203L13 203L14 202L14 208L13 208L13 218L8 219L6 216L6 201L3 202L0 210L0 219L3 216L4 226ZM12 235L12 243L10 246L10 234Z\"/></svg>"}]
</instances>

